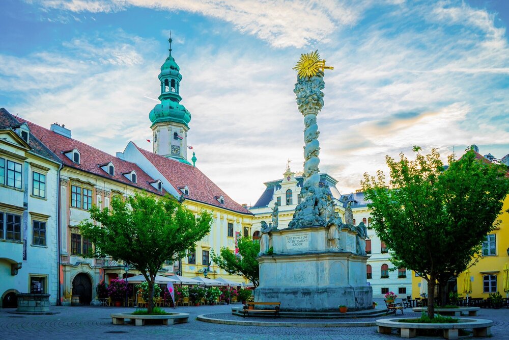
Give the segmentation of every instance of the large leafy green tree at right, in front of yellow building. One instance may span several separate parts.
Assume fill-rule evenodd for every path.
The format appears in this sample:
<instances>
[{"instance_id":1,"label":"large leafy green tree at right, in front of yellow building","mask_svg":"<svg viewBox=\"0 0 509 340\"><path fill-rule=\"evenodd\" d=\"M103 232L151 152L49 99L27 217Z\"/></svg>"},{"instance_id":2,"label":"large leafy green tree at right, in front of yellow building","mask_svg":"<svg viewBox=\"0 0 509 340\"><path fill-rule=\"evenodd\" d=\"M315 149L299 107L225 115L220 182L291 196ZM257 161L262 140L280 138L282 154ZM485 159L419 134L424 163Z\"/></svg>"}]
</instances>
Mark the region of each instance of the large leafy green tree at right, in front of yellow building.
<instances>
[{"instance_id":1,"label":"large leafy green tree at right, in front of yellow building","mask_svg":"<svg viewBox=\"0 0 509 340\"><path fill-rule=\"evenodd\" d=\"M385 175L364 174L361 182L372 226L392 250L397 267L414 270L428 281L428 316L434 316L435 285L458 275L470 263L486 234L497 223L509 192L507 168L476 159L468 150L462 158L448 158L445 170L436 149L414 161L403 153L395 161L386 156Z\"/></svg>"}]
</instances>

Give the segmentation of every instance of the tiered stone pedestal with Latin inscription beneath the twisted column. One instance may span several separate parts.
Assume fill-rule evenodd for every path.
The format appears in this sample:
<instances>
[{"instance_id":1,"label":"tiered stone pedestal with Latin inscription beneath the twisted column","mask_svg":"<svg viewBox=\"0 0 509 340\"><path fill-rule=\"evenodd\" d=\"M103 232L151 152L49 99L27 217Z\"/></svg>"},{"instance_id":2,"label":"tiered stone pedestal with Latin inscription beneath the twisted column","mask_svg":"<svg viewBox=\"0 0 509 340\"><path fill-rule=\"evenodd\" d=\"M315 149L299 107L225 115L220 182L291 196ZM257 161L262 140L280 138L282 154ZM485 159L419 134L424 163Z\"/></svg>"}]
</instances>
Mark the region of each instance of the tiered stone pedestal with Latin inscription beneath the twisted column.
<instances>
[{"instance_id":1,"label":"tiered stone pedestal with Latin inscription beneath the twisted column","mask_svg":"<svg viewBox=\"0 0 509 340\"><path fill-rule=\"evenodd\" d=\"M281 302L281 310L349 311L372 309L373 292L366 282L366 260L355 254L355 233L340 233L342 249L330 249L328 228L309 227L269 233L272 255L258 257L260 285L254 301Z\"/></svg>"}]
</instances>

